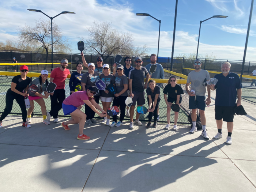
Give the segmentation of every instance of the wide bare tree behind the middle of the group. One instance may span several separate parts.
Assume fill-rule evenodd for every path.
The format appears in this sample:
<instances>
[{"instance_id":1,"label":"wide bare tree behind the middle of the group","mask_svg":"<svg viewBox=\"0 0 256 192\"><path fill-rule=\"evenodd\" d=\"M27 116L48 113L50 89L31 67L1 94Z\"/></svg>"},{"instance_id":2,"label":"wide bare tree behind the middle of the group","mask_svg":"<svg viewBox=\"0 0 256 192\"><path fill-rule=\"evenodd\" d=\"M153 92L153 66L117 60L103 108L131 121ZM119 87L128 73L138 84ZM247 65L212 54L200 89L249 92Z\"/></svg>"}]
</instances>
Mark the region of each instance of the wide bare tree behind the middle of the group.
<instances>
[{"instance_id":1,"label":"wide bare tree behind the middle of the group","mask_svg":"<svg viewBox=\"0 0 256 192\"><path fill-rule=\"evenodd\" d=\"M84 40L84 52L99 54L107 59L112 54L143 56L148 51L147 45L135 46L133 36L130 33L120 33L112 29L109 22L94 21L93 26L87 28L89 37Z\"/></svg>"}]
</instances>

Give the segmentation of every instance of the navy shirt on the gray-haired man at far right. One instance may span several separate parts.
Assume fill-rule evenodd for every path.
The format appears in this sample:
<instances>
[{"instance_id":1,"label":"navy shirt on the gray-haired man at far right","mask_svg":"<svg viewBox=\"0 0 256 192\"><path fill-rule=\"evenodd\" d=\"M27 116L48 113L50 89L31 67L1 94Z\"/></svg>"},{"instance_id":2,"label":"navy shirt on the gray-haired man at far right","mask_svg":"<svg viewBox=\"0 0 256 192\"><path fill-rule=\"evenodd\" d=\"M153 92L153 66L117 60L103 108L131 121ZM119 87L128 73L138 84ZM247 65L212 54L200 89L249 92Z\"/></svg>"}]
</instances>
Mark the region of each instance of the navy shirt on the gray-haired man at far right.
<instances>
[{"instance_id":1,"label":"navy shirt on the gray-haired man at far right","mask_svg":"<svg viewBox=\"0 0 256 192\"><path fill-rule=\"evenodd\" d=\"M239 76L229 72L226 77L221 73L215 75L214 78L218 79L215 85L215 105L234 107L237 100L237 89L242 88Z\"/></svg>"}]
</instances>

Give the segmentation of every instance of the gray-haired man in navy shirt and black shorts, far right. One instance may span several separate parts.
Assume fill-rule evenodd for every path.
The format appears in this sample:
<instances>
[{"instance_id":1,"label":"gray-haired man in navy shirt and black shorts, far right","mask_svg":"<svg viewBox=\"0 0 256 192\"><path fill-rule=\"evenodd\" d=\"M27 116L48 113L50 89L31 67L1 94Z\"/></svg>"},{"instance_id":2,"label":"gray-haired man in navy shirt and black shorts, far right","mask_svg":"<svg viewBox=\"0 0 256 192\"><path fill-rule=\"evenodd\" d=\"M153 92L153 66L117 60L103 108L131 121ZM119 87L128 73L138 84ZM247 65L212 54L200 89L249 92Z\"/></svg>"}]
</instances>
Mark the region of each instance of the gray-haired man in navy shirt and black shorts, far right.
<instances>
[{"instance_id":1,"label":"gray-haired man in navy shirt and black shorts, far right","mask_svg":"<svg viewBox=\"0 0 256 192\"><path fill-rule=\"evenodd\" d=\"M217 121L218 133L213 139L222 138L222 123L227 122L227 144L232 144L231 134L233 131L234 106L241 105L242 85L237 74L229 72L230 63L223 62L221 64L221 74L217 74L214 78L218 79L216 85L211 84L210 89L216 89L215 98L215 119Z\"/></svg>"}]
</instances>

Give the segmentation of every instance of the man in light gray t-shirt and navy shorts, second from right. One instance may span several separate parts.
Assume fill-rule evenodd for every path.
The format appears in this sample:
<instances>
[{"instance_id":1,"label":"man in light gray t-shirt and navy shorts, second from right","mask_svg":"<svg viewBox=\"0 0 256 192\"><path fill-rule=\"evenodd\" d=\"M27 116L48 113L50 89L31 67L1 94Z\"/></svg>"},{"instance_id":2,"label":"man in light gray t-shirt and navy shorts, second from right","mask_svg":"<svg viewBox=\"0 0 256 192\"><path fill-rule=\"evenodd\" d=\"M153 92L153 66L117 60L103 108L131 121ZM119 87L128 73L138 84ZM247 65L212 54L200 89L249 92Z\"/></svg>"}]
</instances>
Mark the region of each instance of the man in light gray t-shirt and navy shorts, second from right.
<instances>
[{"instance_id":1,"label":"man in light gray t-shirt and navy shorts, second from right","mask_svg":"<svg viewBox=\"0 0 256 192\"><path fill-rule=\"evenodd\" d=\"M210 80L210 75L208 71L201 69L202 62L200 59L196 59L194 61L194 71L191 71L188 74L186 91L189 94L189 109L192 109L191 118L193 127L190 129L190 133L194 133L197 131L196 128L196 110L199 109L201 123L203 127L203 131L201 136L204 139L209 140L209 136L206 133L206 117L204 114L204 110L207 105L211 103L211 90L210 86L206 83L206 81ZM191 90L189 90L189 84L191 83ZM206 87L208 98L206 99ZM206 101L205 101L206 99Z\"/></svg>"}]
</instances>

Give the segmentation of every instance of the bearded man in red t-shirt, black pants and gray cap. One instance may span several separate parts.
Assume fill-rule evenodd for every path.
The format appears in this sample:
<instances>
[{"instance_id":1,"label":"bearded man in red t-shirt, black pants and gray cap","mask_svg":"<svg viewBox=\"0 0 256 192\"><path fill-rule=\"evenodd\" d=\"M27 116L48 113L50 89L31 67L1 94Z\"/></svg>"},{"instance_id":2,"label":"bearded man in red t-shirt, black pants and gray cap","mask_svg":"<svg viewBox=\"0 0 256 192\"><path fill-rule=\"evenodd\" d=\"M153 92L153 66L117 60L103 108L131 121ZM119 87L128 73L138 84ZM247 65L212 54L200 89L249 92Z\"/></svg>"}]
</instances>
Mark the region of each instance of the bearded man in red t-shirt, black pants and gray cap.
<instances>
[{"instance_id":1,"label":"bearded man in red t-shirt, black pants and gray cap","mask_svg":"<svg viewBox=\"0 0 256 192\"><path fill-rule=\"evenodd\" d=\"M61 67L55 68L52 70L50 74L50 82L56 84L56 89L54 93L50 93L51 98L51 110L47 112L47 120L50 122L50 117L54 118L53 123L59 122L59 110L62 108L62 103L66 98L65 95L65 80L67 76L70 74L68 67L68 60L62 59L60 61ZM58 102L59 101L59 102Z\"/></svg>"}]
</instances>

